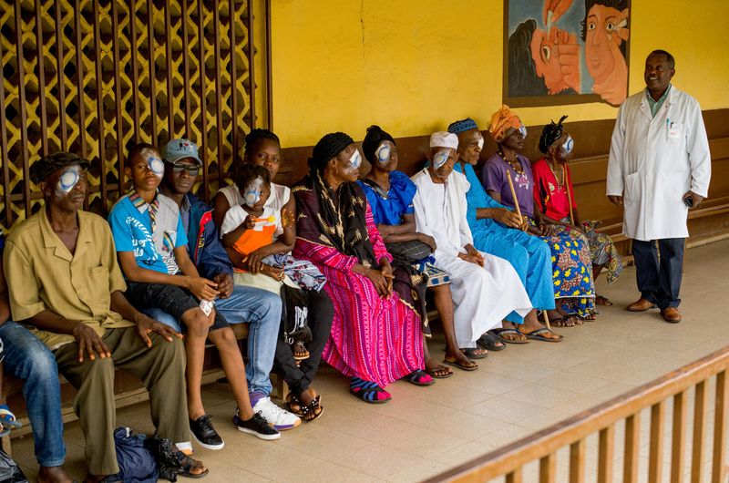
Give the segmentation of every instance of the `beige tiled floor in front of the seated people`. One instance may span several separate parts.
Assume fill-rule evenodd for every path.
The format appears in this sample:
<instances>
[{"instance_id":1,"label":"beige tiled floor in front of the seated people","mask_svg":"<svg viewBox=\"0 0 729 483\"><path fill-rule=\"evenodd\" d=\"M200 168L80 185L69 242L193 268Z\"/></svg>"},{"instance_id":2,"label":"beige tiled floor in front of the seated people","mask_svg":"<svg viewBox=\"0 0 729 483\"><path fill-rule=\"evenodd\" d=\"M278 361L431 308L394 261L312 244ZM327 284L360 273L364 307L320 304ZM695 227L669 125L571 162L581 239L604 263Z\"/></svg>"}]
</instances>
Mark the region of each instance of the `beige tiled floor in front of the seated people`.
<instances>
[{"instance_id":1,"label":"beige tiled floor in front of the seated people","mask_svg":"<svg viewBox=\"0 0 729 483\"><path fill-rule=\"evenodd\" d=\"M598 283L615 306L602 308L597 322L560 329L566 335L561 344L509 345L481 361L477 371L456 370L431 387L395 383L388 387L393 401L382 406L367 406L349 396L346 378L323 367L315 381L323 395L323 416L276 442L237 432L230 424L235 403L227 386L207 386L204 401L226 447L196 451L210 468L205 481L413 481L436 475L729 344L723 312L728 273L729 241L687 252L685 318L682 324L665 324L656 311L624 310L637 297L634 268L626 268L613 285L602 279ZM441 340L430 347L442 356ZM644 414L646 434L649 421L650 415ZM150 431L147 404L120 410L118 423ZM670 448L670 425L665 427ZM623 434L622 425L616 426L616 468L621 468ZM66 439L67 468L81 479L86 471L84 437L77 423L67 425ZM689 435L688 445L690 440ZM32 447L29 437L15 440L13 447L31 478L37 470ZM590 438L588 481L594 481L596 447ZM641 456L644 470L647 437L642 437ZM670 461L670 451L664 459ZM566 462L566 452L560 451L558 481L567 481ZM536 466L528 467L525 477L536 480Z\"/></svg>"}]
</instances>

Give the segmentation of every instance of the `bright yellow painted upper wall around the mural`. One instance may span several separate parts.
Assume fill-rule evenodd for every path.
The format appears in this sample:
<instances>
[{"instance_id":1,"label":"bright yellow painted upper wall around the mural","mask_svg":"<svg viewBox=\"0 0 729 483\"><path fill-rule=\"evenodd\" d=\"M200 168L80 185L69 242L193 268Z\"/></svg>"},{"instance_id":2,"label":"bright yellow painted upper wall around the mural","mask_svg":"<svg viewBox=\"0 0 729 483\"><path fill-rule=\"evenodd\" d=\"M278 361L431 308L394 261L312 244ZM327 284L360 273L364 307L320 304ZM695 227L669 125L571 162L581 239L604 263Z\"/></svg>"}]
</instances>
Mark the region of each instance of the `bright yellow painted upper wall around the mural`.
<instances>
[{"instance_id":1,"label":"bright yellow painted upper wall around the mural","mask_svg":"<svg viewBox=\"0 0 729 483\"><path fill-rule=\"evenodd\" d=\"M284 147L312 145L334 130L363 139L373 123L395 137L467 116L486 128L500 106L503 0L271 2L273 128ZM646 55L664 48L676 57L677 87L704 109L729 108L729 0L631 3L629 93L644 86ZM534 125L560 114L614 118L617 109L590 103L518 112Z\"/></svg>"}]
</instances>

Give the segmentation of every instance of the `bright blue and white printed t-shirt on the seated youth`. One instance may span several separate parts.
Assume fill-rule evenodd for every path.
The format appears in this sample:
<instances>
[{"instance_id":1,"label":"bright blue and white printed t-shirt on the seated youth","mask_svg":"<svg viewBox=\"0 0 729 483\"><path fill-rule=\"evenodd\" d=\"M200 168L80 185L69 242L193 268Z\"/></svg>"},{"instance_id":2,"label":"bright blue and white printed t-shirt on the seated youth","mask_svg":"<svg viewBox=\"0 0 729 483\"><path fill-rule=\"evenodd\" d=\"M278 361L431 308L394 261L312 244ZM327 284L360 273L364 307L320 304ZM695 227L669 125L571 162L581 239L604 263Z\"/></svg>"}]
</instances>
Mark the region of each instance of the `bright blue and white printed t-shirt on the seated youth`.
<instances>
[{"instance_id":1,"label":"bright blue and white printed t-shirt on the seated youth","mask_svg":"<svg viewBox=\"0 0 729 483\"><path fill-rule=\"evenodd\" d=\"M176 221L166 219L165 215L169 216L169 213L174 213L174 211L169 206L169 202L161 200L162 195L158 195L158 197L160 206L155 230L163 231L159 234L167 236L153 236L148 205L145 204L138 209L128 196L124 196L114 205L108 215L108 222L111 225L117 252L134 252L134 258L137 259L140 267L174 275L179 272L179 268L172 250L187 245L188 237L182 227L179 209ZM171 200L168 199L168 201ZM177 208L176 204L174 208ZM174 246L169 247L165 241L155 242L155 238L165 238Z\"/></svg>"}]
</instances>

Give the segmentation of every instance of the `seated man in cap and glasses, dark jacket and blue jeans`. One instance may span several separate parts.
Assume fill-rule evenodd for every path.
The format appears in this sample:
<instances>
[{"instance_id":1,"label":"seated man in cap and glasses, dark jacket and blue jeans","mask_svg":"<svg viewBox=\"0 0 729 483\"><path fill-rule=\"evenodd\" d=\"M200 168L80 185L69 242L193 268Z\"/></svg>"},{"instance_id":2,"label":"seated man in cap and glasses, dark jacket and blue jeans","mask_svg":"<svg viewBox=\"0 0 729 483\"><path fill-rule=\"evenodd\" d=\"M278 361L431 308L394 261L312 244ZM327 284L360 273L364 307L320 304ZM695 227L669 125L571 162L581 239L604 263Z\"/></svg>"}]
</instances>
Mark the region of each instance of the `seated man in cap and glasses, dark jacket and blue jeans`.
<instances>
[{"instance_id":1,"label":"seated man in cap and glasses, dark jacket and blue jeans","mask_svg":"<svg viewBox=\"0 0 729 483\"><path fill-rule=\"evenodd\" d=\"M200 276L218 283L220 295L215 301L215 309L230 324L249 324L249 364L246 365L249 391L271 394L270 373L281 324L281 297L266 290L233 285L231 260L212 221L212 209L190 193L202 169L195 143L188 139L172 139L162 150L162 159L165 174L159 190L180 206L182 225L190 241L190 260ZM175 326L173 318L155 315L163 323L171 319L169 322ZM260 411L279 431L291 429L301 422L299 417L274 405L269 397L253 404L255 411Z\"/></svg>"}]
</instances>

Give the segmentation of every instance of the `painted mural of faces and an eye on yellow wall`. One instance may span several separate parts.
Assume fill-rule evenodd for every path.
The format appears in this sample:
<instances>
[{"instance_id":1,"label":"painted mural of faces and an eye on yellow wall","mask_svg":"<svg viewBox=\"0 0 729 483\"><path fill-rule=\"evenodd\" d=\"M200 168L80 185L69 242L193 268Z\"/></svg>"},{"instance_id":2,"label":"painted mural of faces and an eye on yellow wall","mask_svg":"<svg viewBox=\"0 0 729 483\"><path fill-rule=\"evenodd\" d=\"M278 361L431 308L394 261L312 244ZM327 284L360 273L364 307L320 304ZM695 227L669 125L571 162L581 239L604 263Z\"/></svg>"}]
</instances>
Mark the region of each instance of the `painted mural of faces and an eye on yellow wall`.
<instances>
[{"instance_id":1,"label":"painted mural of faces and an eye on yellow wall","mask_svg":"<svg viewBox=\"0 0 729 483\"><path fill-rule=\"evenodd\" d=\"M627 97L630 0L505 0L504 34L509 106Z\"/></svg>"}]
</instances>

